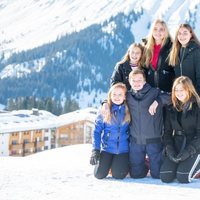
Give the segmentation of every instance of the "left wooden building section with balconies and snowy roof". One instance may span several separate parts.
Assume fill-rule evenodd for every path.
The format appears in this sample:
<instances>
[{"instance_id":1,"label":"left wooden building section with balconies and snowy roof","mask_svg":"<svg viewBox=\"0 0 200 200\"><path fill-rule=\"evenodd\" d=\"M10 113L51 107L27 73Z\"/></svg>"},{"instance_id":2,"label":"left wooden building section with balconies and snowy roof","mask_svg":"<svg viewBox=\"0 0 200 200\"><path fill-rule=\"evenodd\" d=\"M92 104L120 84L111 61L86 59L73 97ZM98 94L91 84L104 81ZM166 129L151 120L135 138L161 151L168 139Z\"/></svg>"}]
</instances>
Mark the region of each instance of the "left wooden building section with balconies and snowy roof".
<instances>
[{"instance_id":1,"label":"left wooden building section with balconies and snowy roof","mask_svg":"<svg viewBox=\"0 0 200 200\"><path fill-rule=\"evenodd\" d=\"M57 117L47 111L0 114L0 156L26 156L54 148Z\"/></svg>"}]
</instances>

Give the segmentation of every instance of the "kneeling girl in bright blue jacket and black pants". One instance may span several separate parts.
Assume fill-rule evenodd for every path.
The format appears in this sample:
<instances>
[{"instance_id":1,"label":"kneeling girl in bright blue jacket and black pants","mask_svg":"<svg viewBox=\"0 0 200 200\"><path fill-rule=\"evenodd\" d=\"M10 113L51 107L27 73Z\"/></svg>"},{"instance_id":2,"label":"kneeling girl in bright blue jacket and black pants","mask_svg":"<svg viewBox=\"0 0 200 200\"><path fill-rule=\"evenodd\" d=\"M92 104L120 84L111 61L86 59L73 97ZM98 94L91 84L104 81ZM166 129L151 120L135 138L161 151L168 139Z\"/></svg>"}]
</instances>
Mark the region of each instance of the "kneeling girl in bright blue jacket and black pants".
<instances>
[{"instance_id":1,"label":"kneeling girl in bright blue jacket and black pants","mask_svg":"<svg viewBox=\"0 0 200 200\"><path fill-rule=\"evenodd\" d=\"M98 179L105 178L110 169L116 179L125 178L129 172L130 113L126 91L123 83L113 85L107 98L109 112L96 119L90 164L95 165L94 176Z\"/></svg>"}]
</instances>

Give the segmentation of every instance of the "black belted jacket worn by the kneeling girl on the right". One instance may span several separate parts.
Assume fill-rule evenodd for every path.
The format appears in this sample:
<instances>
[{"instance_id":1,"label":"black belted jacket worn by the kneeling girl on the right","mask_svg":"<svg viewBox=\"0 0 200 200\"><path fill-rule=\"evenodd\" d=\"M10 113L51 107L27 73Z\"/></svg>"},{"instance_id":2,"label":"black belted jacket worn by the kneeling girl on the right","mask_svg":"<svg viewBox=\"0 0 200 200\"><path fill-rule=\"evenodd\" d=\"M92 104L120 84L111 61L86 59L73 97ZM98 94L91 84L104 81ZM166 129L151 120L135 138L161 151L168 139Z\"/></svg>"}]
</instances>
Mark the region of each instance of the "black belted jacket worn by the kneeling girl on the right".
<instances>
[{"instance_id":1,"label":"black belted jacket worn by the kneeling girl on the right","mask_svg":"<svg viewBox=\"0 0 200 200\"><path fill-rule=\"evenodd\" d=\"M172 105L166 110L163 142L174 146L177 152L192 145L200 150L200 108L193 103L192 109L183 112L178 120L178 111Z\"/></svg>"}]
</instances>

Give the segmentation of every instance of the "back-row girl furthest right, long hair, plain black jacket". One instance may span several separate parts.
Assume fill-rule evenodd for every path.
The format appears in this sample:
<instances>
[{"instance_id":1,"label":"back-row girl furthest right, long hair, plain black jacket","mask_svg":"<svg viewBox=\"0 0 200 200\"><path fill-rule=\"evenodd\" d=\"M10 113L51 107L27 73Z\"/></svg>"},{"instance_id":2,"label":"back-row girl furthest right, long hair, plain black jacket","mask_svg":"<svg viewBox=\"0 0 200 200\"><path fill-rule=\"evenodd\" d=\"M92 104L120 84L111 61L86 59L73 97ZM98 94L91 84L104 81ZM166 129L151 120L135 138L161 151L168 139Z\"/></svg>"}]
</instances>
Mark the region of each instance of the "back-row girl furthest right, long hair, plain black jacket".
<instances>
[{"instance_id":1,"label":"back-row girl furthest right, long hair, plain black jacket","mask_svg":"<svg viewBox=\"0 0 200 200\"><path fill-rule=\"evenodd\" d=\"M188 76L200 94L200 42L189 24L181 24L170 52L175 76Z\"/></svg>"}]
</instances>

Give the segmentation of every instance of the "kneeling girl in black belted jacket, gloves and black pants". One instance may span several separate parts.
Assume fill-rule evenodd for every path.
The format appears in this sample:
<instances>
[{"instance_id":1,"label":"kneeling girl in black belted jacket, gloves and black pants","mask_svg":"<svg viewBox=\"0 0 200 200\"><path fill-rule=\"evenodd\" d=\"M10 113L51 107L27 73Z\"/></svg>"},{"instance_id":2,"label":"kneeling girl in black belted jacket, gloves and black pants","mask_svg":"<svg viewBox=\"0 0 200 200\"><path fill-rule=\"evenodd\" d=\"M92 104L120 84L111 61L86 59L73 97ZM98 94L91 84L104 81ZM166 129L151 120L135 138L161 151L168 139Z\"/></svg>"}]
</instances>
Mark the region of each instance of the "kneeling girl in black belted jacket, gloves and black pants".
<instances>
[{"instance_id":1,"label":"kneeling girl in black belted jacket, gloves and black pants","mask_svg":"<svg viewBox=\"0 0 200 200\"><path fill-rule=\"evenodd\" d=\"M200 98L192 81L181 76L172 88L172 105L164 123L163 182L189 183L200 172Z\"/></svg>"}]
</instances>

